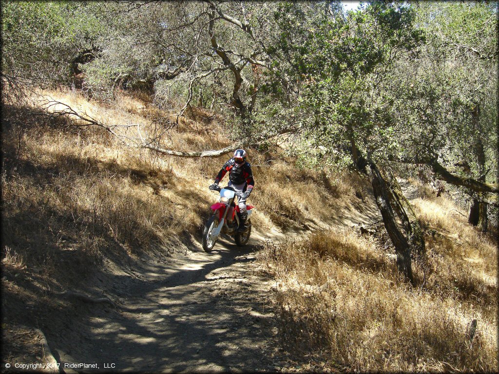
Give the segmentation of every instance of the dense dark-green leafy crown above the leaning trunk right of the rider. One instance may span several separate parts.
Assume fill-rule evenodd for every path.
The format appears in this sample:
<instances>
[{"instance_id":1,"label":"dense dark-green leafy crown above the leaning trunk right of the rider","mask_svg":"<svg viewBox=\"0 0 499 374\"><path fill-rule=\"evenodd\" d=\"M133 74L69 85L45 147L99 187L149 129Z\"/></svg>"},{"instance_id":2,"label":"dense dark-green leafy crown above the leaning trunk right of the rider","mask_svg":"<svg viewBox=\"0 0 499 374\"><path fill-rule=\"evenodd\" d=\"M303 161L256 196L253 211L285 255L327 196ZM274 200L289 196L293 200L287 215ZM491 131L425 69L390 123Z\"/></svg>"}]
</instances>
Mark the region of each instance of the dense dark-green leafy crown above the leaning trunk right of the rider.
<instances>
[{"instance_id":1,"label":"dense dark-green leafy crown above the leaning trunk right of the rider","mask_svg":"<svg viewBox=\"0 0 499 374\"><path fill-rule=\"evenodd\" d=\"M413 26L414 10L372 3L332 18L284 3L274 16L279 29L269 52L276 63L267 92L285 104L289 91L282 94L276 82L294 83L303 134L311 147L327 150L318 156L344 164L352 144L378 159L396 150L390 108L397 92L388 89L387 72L397 57L424 42L423 32Z\"/></svg>"}]
</instances>

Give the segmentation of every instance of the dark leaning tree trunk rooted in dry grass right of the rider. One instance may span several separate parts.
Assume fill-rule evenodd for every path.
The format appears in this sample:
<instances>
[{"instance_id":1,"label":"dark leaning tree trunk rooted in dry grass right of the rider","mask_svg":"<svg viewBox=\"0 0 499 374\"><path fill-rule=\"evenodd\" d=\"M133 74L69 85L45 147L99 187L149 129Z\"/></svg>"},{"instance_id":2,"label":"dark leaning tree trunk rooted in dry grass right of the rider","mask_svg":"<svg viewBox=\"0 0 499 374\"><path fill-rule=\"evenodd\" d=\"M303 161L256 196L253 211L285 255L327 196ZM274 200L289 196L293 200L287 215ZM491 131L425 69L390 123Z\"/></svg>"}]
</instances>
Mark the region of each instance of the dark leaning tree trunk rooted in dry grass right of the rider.
<instances>
[{"instance_id":1,"label":"dark leaning tree trunk rooted in dry grass right of the rider","mask_svg":"<svg viewBox=\"0 0 499 374\"><path fill-rule=\"evenodd\" d=\"M411 282L411 284L413 284L411 246L395 220L395 214L390 203L390 200L393 201L395 198L378 167L372 161L369 162L369 166L371 168L371 184L373 186L376 204L381 211L386 231L395 246L397 269Z\"/></svg>"}]
</instances>

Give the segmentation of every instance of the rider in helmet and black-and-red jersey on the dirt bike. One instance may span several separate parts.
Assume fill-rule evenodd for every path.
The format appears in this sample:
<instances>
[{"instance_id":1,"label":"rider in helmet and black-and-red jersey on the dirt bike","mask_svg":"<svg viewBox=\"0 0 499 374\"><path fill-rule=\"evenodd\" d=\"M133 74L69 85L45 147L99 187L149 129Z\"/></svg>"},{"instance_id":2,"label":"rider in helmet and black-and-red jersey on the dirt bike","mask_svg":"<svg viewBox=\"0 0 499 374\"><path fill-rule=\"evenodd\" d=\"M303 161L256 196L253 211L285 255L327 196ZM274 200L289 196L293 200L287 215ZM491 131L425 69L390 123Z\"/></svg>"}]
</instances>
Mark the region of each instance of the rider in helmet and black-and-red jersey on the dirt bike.
<instances>
[{"instance_id":1,"label":"rider in helmet and black-and-red jersey on the dirt bike","mask_svg":"<svg viewBox=\"0 0 499 374\"><path fill-rule=\"evenodd\" d=\"M244 193L243 197L239 197L239 227L238 232L245 230L245 223L248 219L248 211L246 209L246 199L250 197L251 190L254 186L253 173L251 172L250 163L246 162L248 154L243 149L238 149L234 152L234 157L224 164L220 170L215 183L210 186L210 189L216 189L222 178L229 172L229 187L234 188L236 192Z\"/></svg>"}]
</instances>

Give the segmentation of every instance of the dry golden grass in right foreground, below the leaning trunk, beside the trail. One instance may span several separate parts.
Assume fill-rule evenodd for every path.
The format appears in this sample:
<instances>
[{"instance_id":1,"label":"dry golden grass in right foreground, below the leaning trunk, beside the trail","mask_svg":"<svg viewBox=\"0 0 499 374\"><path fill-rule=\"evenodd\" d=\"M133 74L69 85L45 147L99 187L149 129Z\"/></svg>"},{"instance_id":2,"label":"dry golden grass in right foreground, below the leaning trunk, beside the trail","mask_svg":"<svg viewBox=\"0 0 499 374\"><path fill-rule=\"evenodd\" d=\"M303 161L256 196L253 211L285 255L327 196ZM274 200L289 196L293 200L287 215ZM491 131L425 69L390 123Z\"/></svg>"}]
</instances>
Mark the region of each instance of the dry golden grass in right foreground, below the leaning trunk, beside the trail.
<instances>
[{"instance_id":1,"label":"dry golden grass in right foreground, below the leaning trunk, beside the trail","mask_svg":"<svg viewBox=\"0 0 499 374\"><path fill-rule=\"evenodd\" d=\"M469 288L449 292L446 285L446 279L459 281L468 274L466 279L480 290L482 268L465 268L466 261L447 258L458 265L433 269L428 288L411 288L374 240L350 229L270 243L260 260L276 279L283 344L295 353L326 350L330 362L347 371L498 369L495 284L483 303L466 294ZM456 273L460 266L462 272ZM435 292L438 287L442 292ZM473 319L478 330L470 341Z\"/></svg>"}]
</instances>

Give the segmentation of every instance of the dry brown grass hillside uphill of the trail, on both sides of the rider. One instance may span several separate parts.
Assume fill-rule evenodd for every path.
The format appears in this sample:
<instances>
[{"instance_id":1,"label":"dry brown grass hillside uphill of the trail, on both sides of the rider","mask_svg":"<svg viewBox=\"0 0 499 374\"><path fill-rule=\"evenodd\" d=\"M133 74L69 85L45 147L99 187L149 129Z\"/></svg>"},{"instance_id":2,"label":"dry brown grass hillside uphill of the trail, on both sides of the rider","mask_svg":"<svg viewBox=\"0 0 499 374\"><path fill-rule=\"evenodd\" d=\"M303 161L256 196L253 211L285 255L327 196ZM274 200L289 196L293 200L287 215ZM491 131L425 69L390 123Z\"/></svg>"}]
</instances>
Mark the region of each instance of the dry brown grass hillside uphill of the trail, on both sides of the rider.
<instances>
[{"instance_id":1,"label":"dry brown grass hillside uphill of the trail, on both sides of the rider","mask_svg":"<svg viewBox=\"0 0 499 374\"><path fill-rule=\"evenodd\" d=\"M154 131L169 121L169 113L143 95L121 94L103 104L71 91L45 94L106 124ZM143 255L184 251L200 240L216 198L208 186L228 156L158 157L126 147L103 129L75 128L68 119L37 112L36 105L3 107L5 299L23 305L55 291L83 290L111 266L129 272ZM163 140L183 151L219 149L229 144L224 129L222 119L200 112L173 124ZM328 178L298 170L292 160L249 153L257 181L250 199L253 223L262 233L320 222L327 218L322 201L333 206L333 194L346 205L355 193L346 177ZM312 198L317 193L320 198Z\"/></svg>"}]
</instances>

